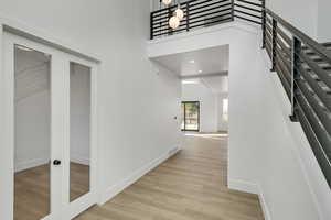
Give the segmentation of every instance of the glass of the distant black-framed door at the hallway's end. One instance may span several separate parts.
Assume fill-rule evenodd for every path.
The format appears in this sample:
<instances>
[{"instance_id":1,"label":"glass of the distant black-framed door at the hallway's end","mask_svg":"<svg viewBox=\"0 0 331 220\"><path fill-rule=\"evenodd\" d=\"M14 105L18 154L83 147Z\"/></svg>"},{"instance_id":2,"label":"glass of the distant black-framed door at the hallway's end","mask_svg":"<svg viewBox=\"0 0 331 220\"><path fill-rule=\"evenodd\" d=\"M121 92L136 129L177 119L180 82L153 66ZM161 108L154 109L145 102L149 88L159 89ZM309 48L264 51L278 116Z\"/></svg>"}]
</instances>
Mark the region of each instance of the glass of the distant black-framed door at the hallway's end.
<instances>
[{"instance_id":1,"label":"glass of the distant black-framed door at the hallway's end","mask_svg":"<svg viewBox=\"0 0 331 220\"><path fill-rule=\"evenodd\" d=\"M199 102L185 102L185 131L199 131Z\"/></svg>"}]
</instances>

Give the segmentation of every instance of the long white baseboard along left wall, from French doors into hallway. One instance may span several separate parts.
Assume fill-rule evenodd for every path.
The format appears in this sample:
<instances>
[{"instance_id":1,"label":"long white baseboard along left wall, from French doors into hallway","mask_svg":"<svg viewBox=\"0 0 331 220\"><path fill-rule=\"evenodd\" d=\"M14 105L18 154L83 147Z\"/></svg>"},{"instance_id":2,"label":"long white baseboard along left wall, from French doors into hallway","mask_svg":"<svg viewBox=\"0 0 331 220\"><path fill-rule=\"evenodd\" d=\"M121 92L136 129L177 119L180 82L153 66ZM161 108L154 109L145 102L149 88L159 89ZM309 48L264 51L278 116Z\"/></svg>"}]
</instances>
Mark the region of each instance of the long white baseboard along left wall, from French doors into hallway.
<instances>
[{"instance_id":1,"label":"long white baseboard along left wall, from French doors into hallway","mask_svg":"<svg viewBox=\"0 0 331 220\"><path fill-rule=\"evenodd\" d=\"M149 173L150 170L152 170L153 168L156 168L157 166L159 166L161 163L163 163L164 161L167 161L169 157L171 157L172 155L177 154L179 151L180 151L180 147L170 150L169 152L167 152L166 154L163 154L159 158L156 158L154 161L152 161L148 165L139 168L134 174L131 174L128 177L126 177L122 182L120 182L120 183L118 183L116 185L110 186L108 189L106 189L106 193L100 196L100 202L99 202L99 205L106 204L108 200L110 200L116 195L118 195L119 193L121 193L128 186L132 185L135 182L137 182L143 175L146 175L147 173Z\"/></svg>"}]
</instances>

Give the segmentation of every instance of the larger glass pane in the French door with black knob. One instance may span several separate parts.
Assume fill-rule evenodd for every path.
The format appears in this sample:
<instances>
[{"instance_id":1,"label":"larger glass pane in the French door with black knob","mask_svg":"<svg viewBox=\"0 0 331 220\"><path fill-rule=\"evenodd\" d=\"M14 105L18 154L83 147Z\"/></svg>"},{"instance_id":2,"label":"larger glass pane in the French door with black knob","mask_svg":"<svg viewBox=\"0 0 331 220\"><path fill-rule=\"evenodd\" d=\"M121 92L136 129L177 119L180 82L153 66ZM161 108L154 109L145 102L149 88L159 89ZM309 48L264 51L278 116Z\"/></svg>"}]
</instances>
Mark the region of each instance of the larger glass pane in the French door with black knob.
<instances>
[{"instance_id":1,"label":"larger glass pane in the French door with black knob","mask_svg":"<svg viewBox=\"0 0 331 220\"><path fill-rule=\"evenodd\" d=\"M14 220L50 215L51 56L14 47Z\"/></svg>"}]
</instances>

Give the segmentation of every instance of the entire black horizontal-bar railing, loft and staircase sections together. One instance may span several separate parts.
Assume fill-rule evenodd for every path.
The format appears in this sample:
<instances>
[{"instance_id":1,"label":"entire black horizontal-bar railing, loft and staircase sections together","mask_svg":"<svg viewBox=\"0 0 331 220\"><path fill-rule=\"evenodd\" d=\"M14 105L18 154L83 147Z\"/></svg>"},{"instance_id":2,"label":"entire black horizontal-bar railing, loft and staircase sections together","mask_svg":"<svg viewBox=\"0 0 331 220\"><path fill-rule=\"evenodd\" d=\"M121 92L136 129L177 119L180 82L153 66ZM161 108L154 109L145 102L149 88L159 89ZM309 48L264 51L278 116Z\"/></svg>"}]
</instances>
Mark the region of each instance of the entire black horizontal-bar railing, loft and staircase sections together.
<instances>
[{"instance_id":1,"label":"entire black horizontal-bar railing, loft and staircase sections together","mask_svg":"<svg viewBox=\"0 0 331 220\"><path fill-rule=\"evenodd\" d=\"M289 98L290 119L299 122L331 187L331 43L320 44L265 8L265 1L191 0L181 4L179 29L168 20L177 6L151 13L151 38L229 22L235 19L263 29L263 48Z\"/></svg>"}]
</instances>

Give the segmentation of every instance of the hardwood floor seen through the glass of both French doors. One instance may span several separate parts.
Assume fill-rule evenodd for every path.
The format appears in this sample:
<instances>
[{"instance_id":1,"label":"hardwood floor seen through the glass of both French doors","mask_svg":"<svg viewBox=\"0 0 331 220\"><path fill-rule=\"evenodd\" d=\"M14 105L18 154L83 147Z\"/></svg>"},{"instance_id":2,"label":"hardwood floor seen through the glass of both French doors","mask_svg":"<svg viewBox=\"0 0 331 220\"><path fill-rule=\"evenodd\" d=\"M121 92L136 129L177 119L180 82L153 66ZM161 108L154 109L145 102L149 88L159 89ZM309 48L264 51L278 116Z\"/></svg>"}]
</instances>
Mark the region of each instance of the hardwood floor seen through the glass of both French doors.
<instances>
[{"instance_id":1,"label":"hardwood floor seen through the glass of both French doors","mask_svg":"<svg viewBox=\"0 0 331 220\"><path fill-rule=\"evenodd\" d=\"M89 166L71 163L71 201L89 190ZM14 220L40 220L50 213L50 165L14 176Z\"/></svg>"}]
</instances>

